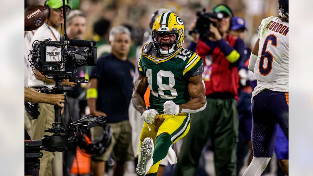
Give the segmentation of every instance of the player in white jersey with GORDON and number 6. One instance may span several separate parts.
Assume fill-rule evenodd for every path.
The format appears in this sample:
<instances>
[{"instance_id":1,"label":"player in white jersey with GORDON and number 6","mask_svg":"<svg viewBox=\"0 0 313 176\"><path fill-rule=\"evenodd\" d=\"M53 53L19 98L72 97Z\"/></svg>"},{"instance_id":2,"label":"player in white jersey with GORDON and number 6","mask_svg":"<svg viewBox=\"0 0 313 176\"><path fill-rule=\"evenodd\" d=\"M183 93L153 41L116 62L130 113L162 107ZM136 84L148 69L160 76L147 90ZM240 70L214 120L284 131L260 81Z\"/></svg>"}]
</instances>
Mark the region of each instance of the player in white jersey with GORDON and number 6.
<instances>
[{"instance_id":1,"label":"player in white jersey with GORDON and number 6","mask_svg":"<svg viewBox=\"0 0 313 176\"><path fill-rule=\"evenodd\" d=\"M249 60L257 86L251 108L253 159L243 176L262 174L273 156L278 124L288 139L288 0L278 6L280 16L262 20Z\"/></svg>"}]
</instances>

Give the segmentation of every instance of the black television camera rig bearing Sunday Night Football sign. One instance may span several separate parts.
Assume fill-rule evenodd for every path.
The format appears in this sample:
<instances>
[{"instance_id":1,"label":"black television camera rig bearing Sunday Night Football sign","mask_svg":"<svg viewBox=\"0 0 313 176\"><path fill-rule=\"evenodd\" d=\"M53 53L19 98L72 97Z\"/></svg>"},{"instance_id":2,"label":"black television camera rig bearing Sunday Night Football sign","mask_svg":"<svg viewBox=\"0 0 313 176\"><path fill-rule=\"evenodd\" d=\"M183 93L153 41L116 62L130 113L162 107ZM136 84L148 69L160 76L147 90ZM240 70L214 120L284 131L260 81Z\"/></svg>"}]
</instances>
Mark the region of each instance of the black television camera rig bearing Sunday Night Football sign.
<instances>
[{"instance_id":1,"label":"black television camera rig bearing Sunday Night Football sign","mask_svg":"<svg viewBox=\"0 0 313 176\"><path fill-rule=\"evenodd\" d=\"M64 40L51 41L46 38L44 41L34 41L33 50L28 55L28 60L31 67L38 70L47 79L53 79L55 86L48 88L47 86L41 87L42 93L62 93L72 91L71 85L61 85L65 79L74 83L88 82L85 77L73 77L73 73L63 70L63 63L69 62L75 66L93 66L96 65L97 48L94 41L86 40L67 40L66 34L66 13L65 13L65 0L63 0L63 15L64 15ZM84 50L67 51L68 47L85 46ZM61 56L61 57L59 57ZM47 58L50 60L47 60ZM59 60L56 59L60 58ZM38 106L31 106L38 109ZM33 118L38 118L38 110L32 113ZM41 141L25 141L25 156L27 158L40 158L42 153L40 150L49 152L62 152L67 146L68 142L72 142L75 137L80 135L81 131L85 131L96 125L105 123L105 117L87 116L79 121L73 122L70 129L61 127L61 107L54 106L54 123L52 128L48 128L45 132L53 133L53 135L45 135ZM68 137L62 133L73 132L72 137ZM41 148L42 146L42 148Z\"/></svg>"}]
</instances>

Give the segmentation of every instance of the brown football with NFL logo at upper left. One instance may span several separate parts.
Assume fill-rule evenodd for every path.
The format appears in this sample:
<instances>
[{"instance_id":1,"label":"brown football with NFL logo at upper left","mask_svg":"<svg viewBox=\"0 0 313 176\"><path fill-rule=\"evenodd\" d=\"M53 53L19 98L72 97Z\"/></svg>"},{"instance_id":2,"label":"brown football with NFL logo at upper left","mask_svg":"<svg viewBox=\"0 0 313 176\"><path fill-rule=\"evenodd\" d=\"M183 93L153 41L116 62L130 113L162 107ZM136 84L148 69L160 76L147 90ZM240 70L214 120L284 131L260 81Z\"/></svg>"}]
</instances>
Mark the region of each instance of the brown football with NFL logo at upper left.
<instances>
[{"instance_id":1,"label":"brown football with NFL logo at upper left","mask_svg":"<svg viewBox=\"0 0 313 176\"><path fill-rule=\"evenodd\" d=\"M48 18L49 9L45 6L36 5L25 8L24 31L38 29Z\"/></svg>"}]
</instances>

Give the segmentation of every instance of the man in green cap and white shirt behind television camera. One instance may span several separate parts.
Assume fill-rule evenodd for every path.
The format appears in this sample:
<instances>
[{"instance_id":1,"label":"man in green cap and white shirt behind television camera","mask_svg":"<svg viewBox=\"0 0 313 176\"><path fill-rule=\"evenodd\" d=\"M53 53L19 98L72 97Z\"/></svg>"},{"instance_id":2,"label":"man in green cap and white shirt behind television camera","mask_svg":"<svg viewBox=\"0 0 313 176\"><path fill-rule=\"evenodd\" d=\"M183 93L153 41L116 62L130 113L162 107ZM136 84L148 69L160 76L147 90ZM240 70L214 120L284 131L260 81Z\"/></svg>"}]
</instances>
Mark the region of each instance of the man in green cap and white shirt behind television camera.
<instances>
[{"instance_id":1,"label":"man in green cap and white shirt behind television camera","mask_svg":"<svg viewBox=\"0 0 313 176\"><path fill-rule=\"evenodd\" d=\"M68 13L71 6L65 0L66 12ZM62 1L59 0L47 0L44 3L49 9L49 15L46 23L44 23L40 28L35 32L30 45L33 44L35 40L42 41L45 38L50 38L52 41L60 41L60 33L58 31L61 23L63 23L63 8ZM29 48L32 48L29 47ZM54 47L47 48L47 53L53 52L58 53L60 48L55 49ZM47 55L47 61L61 61L61 54L59 56ZM37 70L32 70L29 68L29 78L28 86L32 89L38 89L39 86L46 85L48 88L51 88L55 85L55 82L52 79L45 79L41 73ZM34 71L34 72L33 72ZM67 85L69 81L65 81L62 84ZM44 132L47 128L51 128L52 123L54 122L54 107L53 105L41 103L39 104L40 115L38 119L34 120L32 126L32 140L41 140L44 135L50 135L49 132ZM61 152L47 152L43 151L43 158L40 158L40 171L39 176L46 175L62 175L62 153Z\"/></svg>"}]
</instances>

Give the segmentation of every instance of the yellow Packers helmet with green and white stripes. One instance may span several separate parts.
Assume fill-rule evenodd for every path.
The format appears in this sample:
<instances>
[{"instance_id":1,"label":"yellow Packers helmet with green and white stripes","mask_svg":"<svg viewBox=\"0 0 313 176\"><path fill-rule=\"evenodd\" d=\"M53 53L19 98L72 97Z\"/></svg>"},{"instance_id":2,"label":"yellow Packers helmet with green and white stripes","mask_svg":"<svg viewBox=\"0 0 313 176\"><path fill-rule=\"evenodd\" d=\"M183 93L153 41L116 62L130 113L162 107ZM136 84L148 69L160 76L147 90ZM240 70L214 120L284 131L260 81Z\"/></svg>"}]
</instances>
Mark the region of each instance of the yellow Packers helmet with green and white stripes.
<instances>
[{"instance_id":1,"label":"yellow Packers helmet with green and white stripes","mask_svg":"<svg viewBox=\"0 0 313 176\"><path fill-rule=\"evenodd\" d=\"M162 13L152 25L153 46L159 54L170 55L182 47L184 33L181 18L175 13Z\"/></svg>"}]
</instances>

